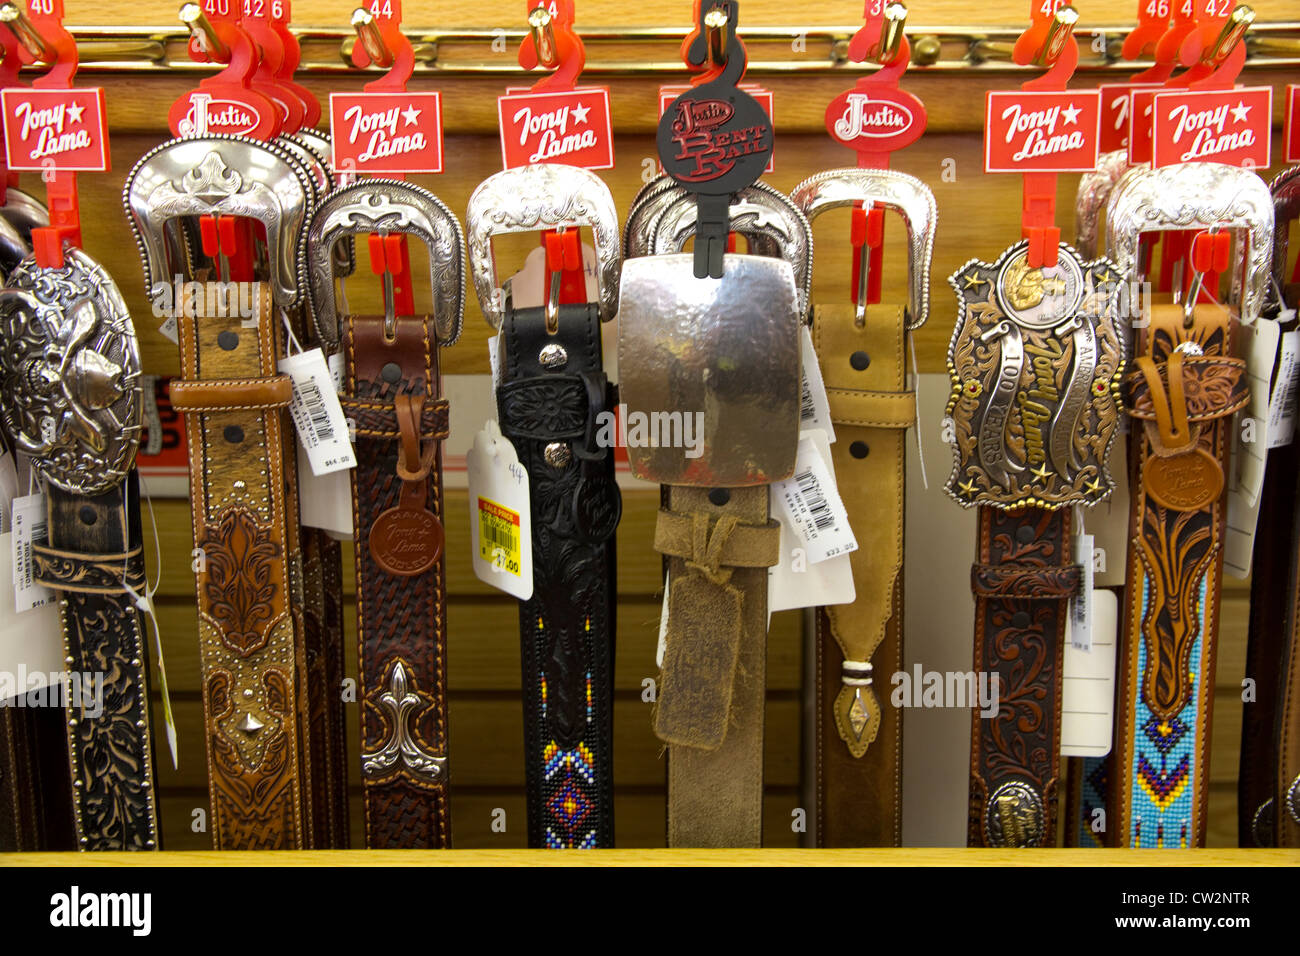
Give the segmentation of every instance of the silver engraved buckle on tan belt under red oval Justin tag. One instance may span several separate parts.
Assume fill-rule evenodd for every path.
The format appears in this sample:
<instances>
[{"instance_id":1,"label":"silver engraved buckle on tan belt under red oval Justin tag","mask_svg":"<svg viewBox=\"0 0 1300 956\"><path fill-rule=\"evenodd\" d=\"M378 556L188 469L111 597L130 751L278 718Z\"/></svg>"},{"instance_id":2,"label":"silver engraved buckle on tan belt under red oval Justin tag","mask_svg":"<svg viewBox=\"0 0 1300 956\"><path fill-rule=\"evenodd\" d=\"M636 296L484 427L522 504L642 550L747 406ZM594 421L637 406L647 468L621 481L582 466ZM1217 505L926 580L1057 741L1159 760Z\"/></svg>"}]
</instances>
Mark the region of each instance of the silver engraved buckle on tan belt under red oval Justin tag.
<instances>
[{"instance_id":1,"label":"silver engraved buckle on tan belt under red oval Justin tag","mask_svg":"<svg viewBox=\"0 0 1300 956\"><path fill-rule=\"evenodd\" d=\"M930 186L914 176L893 169L831 169L811 176L790 193L811 222L827 209L855 203L879 203L898 212L907 226L907 330L918 329L930 317L930 260L935 250L935 221L939 212ZM863 255L863 268L870 256ZM866 276L859 277L861 325L866 319Z\"/></svg>"}]
</instances>

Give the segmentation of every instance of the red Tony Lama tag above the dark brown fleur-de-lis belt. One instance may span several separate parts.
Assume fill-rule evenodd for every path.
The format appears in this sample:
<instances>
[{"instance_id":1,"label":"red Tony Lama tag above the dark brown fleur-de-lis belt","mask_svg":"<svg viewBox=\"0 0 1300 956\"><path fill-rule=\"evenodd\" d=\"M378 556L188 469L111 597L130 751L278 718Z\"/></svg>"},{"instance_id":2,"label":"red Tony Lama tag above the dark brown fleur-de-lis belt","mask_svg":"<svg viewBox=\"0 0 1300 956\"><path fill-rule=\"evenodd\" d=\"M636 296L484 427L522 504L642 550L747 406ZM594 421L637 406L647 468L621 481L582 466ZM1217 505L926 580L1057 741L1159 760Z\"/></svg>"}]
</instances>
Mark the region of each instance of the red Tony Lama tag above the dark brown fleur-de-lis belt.
<instances>
[{"instance_id":1,"label":"red Tony Lama tag above the dark brown fleur-de-lis belt","mask_svg":"<svg viewBox=\"0 0 1300 956\"><path fill-rule=\"evenodd\" d=\"M442 172L438 92L332 92L329 121L339 172Z\"/></svg>"}]
</instances>

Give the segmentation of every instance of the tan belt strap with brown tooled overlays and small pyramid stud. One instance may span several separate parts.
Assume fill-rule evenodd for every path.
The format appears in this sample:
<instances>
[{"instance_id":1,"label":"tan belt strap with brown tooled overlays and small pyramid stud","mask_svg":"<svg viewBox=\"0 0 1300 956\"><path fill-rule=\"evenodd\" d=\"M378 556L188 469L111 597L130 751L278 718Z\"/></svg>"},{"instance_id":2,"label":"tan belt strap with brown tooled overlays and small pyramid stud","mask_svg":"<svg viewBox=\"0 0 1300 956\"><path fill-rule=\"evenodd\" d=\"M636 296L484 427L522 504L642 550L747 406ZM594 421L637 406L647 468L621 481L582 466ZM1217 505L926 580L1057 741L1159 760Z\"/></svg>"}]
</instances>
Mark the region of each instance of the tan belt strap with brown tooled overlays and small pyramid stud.
<instances>
[{"instance_id":1,"label":"tan belt strap with brown tooled overlays and small pyramid stud","mask_svg":"<svg viewBox=\"0 0 1300 956\"><path fill-rule=\"evenodd\" d=\"M213 845L300 849L313 829L291 385L270 289L252 293L248 325L205 315L208 294L178 315L172 406L190 449Z\"/></svg>"}]
</instances>

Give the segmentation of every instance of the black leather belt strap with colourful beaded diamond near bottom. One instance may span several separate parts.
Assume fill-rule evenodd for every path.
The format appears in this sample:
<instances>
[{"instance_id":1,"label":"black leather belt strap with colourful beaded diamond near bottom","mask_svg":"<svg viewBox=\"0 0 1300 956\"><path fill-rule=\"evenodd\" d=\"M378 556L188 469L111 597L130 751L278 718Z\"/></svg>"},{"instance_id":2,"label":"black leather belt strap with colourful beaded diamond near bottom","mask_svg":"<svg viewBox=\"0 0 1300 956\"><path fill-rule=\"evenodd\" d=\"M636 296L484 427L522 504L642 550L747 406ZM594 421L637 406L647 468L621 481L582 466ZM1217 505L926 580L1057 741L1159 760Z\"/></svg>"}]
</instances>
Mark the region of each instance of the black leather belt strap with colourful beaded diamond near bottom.
<instances>
[{"instance_id":1,"label":"black leather belt strap with colourful beaded diamond near bottom","mask_svg":"<svg viewBox=\"0 0 1300 956\"><path fill-rule=\"evenodd\" d=\"M528 845L614 845L615 406L594 304L504 313L502 434L528 472L533 597L519 604ZM563 359L560 354L563 352Z\"/></svg>"}]
</instances>

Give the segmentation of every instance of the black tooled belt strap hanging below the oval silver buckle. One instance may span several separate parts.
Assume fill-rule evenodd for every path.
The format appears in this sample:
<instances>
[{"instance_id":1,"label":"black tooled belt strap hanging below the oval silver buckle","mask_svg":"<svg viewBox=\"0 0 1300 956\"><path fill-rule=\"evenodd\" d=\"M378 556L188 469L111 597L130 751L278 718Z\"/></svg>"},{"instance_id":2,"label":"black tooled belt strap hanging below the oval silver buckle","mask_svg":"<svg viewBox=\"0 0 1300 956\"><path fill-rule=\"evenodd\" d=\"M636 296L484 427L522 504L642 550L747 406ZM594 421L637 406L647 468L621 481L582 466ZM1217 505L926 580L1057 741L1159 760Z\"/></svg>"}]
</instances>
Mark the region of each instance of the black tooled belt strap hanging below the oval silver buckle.
<instances>
[{"instance_id":1,"label":"black tooled belt strap hanging below the oval silver buckle","mask_svg":"<svg viewBox=\"0 0 1300 956\"><path fill-rule=\"evenodd\" d=\"M65 711L77 844L88 851L157 849L148 646L126 591L134 581L143 592L144 581L135 471L96 496L56 486L47 496L49 545L38 550L36 563L43 583L58 592L64 653L75 675ZM100 551L112 563L65 557L72 546Z\"/></svg>"}]
</instances>

